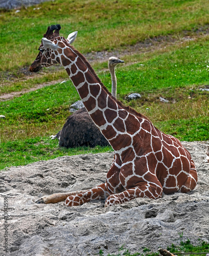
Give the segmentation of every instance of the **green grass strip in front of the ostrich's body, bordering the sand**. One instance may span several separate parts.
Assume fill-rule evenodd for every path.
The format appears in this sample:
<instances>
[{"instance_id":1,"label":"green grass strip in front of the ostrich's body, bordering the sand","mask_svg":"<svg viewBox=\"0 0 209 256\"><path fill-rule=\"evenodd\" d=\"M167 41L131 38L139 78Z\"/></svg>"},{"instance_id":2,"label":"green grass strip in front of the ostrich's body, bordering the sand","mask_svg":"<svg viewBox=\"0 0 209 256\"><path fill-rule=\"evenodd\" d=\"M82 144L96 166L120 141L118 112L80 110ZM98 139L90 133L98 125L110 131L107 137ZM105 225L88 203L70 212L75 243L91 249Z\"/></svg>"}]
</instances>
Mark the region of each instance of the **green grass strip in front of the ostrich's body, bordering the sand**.
<instances>
[{"instance_id":1,"label":"green grass strip in front of the ostrich's body, bordering the sand","mask_svg":"<svg viewBox=\"0 0 209 256\"><path fill-rule=\"evenodd\" d=\"M96 146L94 148L84 146L77 148L59 147L58 140L51 140L49 137L14 140L1 143L0 169L8 166L8 162L12 166L19 166L62 156L96 154L110 151L112 151L110 146Z\"/></svg>"}]
</instances>

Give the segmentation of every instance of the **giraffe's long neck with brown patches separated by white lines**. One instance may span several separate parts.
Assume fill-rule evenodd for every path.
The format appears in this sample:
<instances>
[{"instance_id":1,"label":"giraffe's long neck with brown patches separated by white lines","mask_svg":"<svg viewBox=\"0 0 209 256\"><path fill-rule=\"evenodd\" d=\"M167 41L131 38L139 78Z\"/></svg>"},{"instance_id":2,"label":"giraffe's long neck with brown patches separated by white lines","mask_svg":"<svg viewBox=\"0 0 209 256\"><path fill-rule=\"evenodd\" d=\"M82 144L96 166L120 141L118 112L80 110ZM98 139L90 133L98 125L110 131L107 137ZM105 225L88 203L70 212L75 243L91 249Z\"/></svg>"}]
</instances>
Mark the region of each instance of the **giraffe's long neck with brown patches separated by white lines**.
<instances>
[{"instance_id":1,"label":"giraffe's long neck with brown patches separated by white lines","mask_svg":"<svg viewBox=\"0 0 209 256\"><path fill-rule=\"evenodd\" d=\"M71 78L89 116L114 150L118 144L115 127L120 126L121 118L126 119L129 114L114 101L83 55L72 49L71 51L73 54L66 56L66 61L62 58L62 65Z\"/></svg>"}]
</instances>

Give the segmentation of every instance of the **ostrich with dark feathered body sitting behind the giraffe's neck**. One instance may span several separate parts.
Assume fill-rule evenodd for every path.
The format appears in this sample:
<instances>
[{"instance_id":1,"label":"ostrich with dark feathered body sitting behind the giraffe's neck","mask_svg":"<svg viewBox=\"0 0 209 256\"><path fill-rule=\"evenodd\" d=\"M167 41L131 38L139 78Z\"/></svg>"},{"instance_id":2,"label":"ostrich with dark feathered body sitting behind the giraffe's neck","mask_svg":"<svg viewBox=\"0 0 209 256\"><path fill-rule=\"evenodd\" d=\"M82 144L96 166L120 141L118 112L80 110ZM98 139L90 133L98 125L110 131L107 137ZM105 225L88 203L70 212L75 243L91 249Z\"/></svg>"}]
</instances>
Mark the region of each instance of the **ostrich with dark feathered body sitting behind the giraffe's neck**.
<instances>
[{"instance_id":1,"label":"ostrich with dark feathered body sitting behind the giraffe's neck","mask_svg":"<svg viewBox=\"0 0 209 256\"><path fill-rule=\"evenodd\" d=\"M112 81L112 95L116 98L117 78L115 76L115 67L118 63L124 62L117 57L110 57L108 67ZM107 146L109 142L105 139L97 126L92 122L85 108L77 110L73 115L68 116L62 127L62 130L54 138L59 139L59 146L77 147L96 145Z\"/></svg>"}]
</instances>

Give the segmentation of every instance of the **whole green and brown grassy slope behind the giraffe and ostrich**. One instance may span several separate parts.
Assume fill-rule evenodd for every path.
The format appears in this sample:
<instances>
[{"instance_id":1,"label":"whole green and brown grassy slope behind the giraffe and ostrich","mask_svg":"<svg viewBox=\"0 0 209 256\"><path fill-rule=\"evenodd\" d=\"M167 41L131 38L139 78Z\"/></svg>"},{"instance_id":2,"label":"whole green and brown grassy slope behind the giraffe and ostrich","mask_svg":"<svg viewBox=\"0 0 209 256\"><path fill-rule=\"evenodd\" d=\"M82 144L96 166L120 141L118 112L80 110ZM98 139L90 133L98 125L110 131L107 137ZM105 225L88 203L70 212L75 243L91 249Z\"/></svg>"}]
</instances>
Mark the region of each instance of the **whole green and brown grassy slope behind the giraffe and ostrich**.
<instances>
[{"instance_id":1,"label":"whole green and brown grassy slope behind the giraffe and ostrich","mask_svg":"<svg viewBox=\"0 0 209 256\"><path fill-rule=\"evenodd\" d=\"M15 68L17 72L18 67L31 63L37 54L42 34L47 25L53 23L60 23L62 33L66 35L72 30L80 30L75 45L84 53L114 47L124 49L124 45L134 44L149 36L171 32L176 36L183 29L195 29L207 24L207 1L86 3L79 1L74 7L72 1L67 4L66 1L55 1L51 5L40 5L38 12L33 8L21 9L19 13L2 12L0 18L4 24L1 24L3 40L0 44L4 42L5 47L0 48L0 54L5 57L1 69L14 73ZM90 15L89 10L95 15ZM18 35L14 33L16 30L19 31ZM117 37L120 39L116 40ZM208 140L208 93L198 89L208 84L207 49L208 37L200 36L184 42L179 40L174 45L166 45L166 48L123 56L125 66L117 67L119 99L147 115L162 131L181 140ZM109 72L101 72L107 69L107 63L95 64L94 68L110 90ZM18 91L42 81L66 78L65 71L57 73L53 68L44 69L24 82L5 81L0 89L2 92ZM127 101L126 95L131 92L140 93L142 98ZM161 103L159 97L167 98L170 102ZM1 114L7 117L0 119L0 168L62 155L111 150L110 147L66 150L58 147L58 141L49 139L50 135L61 129L68 115L69 104L78 99L71 81L67 81L0 102Z\"/></svg>"}]
</instances>

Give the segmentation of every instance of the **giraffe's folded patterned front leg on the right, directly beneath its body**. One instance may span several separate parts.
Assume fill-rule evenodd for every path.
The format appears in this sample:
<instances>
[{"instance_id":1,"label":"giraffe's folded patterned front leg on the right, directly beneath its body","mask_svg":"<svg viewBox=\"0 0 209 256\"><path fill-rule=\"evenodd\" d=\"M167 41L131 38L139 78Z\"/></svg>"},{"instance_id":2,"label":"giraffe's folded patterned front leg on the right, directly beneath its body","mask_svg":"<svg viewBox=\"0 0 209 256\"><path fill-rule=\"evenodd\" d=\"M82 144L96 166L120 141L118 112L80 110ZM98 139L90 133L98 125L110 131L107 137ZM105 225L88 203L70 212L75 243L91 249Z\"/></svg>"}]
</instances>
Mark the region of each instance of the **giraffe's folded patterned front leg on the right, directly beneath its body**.
<instances>
[{"instance_id":1,"label":"giraffe's folded patterned front leg on the right, directly beneath its body","mask_svg":"<svg viewBox=\"0 0 209 256\"><path fill-rule=\"evenodd\" d=\"M111 206L114 204L122 204L124 202L130 201L134 198L151 198L157 199L162 196L162 186L160 185L138 185L133 188L127 189L119 194L110 195L105 202L106 206Z\"/></svg>"}]
</instances>

